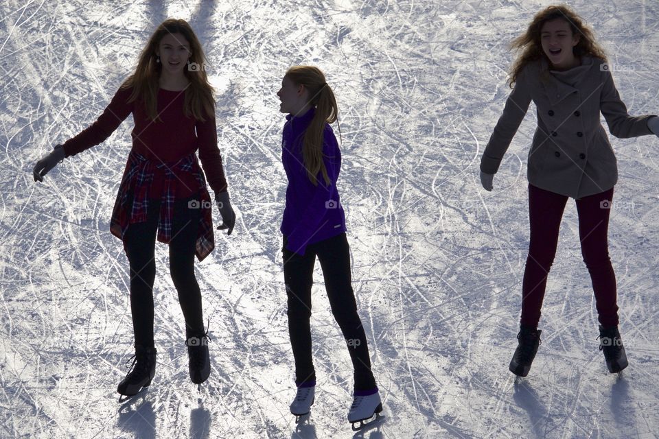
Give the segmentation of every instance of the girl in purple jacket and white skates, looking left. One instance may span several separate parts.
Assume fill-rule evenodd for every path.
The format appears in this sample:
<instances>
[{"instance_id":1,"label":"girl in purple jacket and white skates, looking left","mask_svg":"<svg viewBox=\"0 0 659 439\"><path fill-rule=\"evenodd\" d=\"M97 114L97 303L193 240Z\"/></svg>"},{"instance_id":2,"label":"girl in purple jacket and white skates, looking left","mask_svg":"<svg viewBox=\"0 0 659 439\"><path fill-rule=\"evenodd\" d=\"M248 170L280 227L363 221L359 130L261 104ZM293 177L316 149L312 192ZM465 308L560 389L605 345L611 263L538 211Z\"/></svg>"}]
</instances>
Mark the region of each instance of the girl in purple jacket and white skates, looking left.
<instances>
[{"instance_id":1,"label":"girl in purple jacket and white skates, looking left","mask_svg":"<svg viewBox=\"0 0 659 439\"><path fill-rule=\"evenodd\" d=\"M302 416L314 403L316 373L311 355L311 287L318 257L334 318L354 366L354 401L348 420L357 423L382 411L362 322L351 287L345 213L336 180L341 154L329 123L338 108L332 88L316 67L291 67L277 92L279 110L288 113L281 142L288 187L281 222L288 330L295 359L297 395L290 412Z\"/></svg>"}]
</instances>

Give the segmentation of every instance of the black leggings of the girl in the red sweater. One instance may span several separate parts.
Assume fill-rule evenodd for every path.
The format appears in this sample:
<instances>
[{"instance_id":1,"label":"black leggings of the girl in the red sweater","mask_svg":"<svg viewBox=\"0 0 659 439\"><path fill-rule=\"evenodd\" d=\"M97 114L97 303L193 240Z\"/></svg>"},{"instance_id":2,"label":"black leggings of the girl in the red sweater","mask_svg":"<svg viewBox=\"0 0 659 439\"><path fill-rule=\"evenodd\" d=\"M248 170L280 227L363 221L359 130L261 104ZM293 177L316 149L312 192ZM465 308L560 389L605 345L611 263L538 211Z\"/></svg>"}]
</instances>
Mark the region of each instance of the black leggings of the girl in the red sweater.
<instances>
[{"instance_id":1,"label":"black leggings of the girl in the red sweater","mask_svg":"<svg viewBox=\"0 0 659 439\"><path fill-rule=\"evenodd\" d=\"M194 276L194 250L200 209L189 209L192 196L174 202L170 272L185 317L186 337L203 332L201 292ZM129 203L130 206L132 203ZM146 222L130 224L124 235L124 250L130 263L130 311L135 344L153 347L153 282L156 277L154 250L160 200L149 200Z\"/></svg>"}]
</instances>

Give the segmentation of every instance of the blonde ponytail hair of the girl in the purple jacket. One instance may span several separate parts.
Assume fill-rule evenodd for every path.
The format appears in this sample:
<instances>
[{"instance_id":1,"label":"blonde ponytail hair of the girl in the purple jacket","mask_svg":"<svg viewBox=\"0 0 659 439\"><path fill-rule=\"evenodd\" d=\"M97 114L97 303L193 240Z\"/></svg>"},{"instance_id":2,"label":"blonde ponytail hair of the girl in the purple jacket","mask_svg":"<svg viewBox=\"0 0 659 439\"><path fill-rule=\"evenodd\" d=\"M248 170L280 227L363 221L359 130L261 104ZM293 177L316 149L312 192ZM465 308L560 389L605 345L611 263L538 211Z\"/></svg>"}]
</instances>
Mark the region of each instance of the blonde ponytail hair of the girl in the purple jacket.
<instances>
[{"instance_id":1,"label":"blonde ponytail hair of the girl in the purple jacket","mask_svg":"<svg viewBox=\"0 0 659 439\"><path fill-rule=\"evenodd\" d=\"M323 162L323 131L325 123L334 123L334 121L338 123L338 106L334 92L325 82L323 72L317 67L294 66L286 71L284 78L289 78L297 86L305 86L309 91L308 104L316 107L314 118L304 134L302 156L307 175L313 185L318 185L316 176L319 172L323 174L325 184L329 185L331 180L327 176L327 169ZM340 136L340 125L338 132Z\"/></svg>"}]
</instances>

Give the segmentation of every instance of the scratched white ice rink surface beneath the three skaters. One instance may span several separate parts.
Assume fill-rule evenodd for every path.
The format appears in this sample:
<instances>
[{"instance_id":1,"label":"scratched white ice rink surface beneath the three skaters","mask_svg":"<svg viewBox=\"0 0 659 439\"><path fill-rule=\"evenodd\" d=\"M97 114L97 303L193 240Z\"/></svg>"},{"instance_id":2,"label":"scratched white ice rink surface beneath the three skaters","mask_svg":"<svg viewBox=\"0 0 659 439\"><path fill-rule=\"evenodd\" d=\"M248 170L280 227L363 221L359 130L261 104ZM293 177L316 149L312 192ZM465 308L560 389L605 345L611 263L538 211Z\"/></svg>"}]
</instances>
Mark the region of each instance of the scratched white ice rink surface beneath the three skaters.
<instances>
[{"instance_id":1,"label":"scratched white ice rink surface beneath the three skaters","mask_svg":"<svg viewBox=\"0 0 659 439\"><path fill-rule=\"evenodd\" d=\"M659 113L659 3L570 1L594 27L632 115ZM623 378L566 207L542 346L517 346L535 106L489 193L483 148L509 94L509 41L546 1L3 1L0 5L1 438L655 438L659 431L659 139L611 137L619 180L610 255ZM196 264L212 370L189 380L183 314L157 244L156 377L119 403L132 355L128 261L111 235L132 117L35 184L32 167L102 113L155 27L182 18L216 86L218 142L238 214ZM338 188L384 418L355 433L352 366L316 264L318 386L296 424L281 265L286 174L275 93L314 64L336 93ZM608 127L605 126L608 131ZM335 132L338 133L336 125ZM213 219L219 222L217 209Z\"/></svg>"}]
</instances>

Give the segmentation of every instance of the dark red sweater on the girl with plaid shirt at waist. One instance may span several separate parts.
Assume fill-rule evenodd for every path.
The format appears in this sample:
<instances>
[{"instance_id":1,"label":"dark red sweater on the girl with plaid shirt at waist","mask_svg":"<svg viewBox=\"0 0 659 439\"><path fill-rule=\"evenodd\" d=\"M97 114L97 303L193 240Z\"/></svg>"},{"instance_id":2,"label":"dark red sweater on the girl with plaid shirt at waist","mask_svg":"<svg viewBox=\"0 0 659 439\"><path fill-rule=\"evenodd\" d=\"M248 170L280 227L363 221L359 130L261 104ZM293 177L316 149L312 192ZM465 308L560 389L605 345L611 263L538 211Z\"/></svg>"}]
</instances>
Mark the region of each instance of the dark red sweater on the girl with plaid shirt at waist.
<instances>
[{"instance_id":1,"label":"dark red sweater on the girl with plaid shirt at waist","mask_svg":"<svg viewBox=\"0 0 659 439\"><path fill-rule=\"evenodd\" d=\"M206 117L205 122L194 117L185 117L183 102L185 91L158 92L158 114L161 121L152 121L146 108L139 101L128 103L132 89L121 89L115 93L103 114L73 139L64 143L66 156L73 156L94 145L98 145L117 129L132 112L135 128L132 130L132 150L139 152L155 163L175 165L181 158L199 150L199 159L209 186L215 192L227 190L227 180L222 169L222 156L218 149L215 117ZM128 155L128 154L126 154ZM176 198L188 197L198 187L194 176L189 173L177 175L182 184L176 185ZM164 173L154 175L150 198L160 198Z\"/></svg>"}]
</instances>

